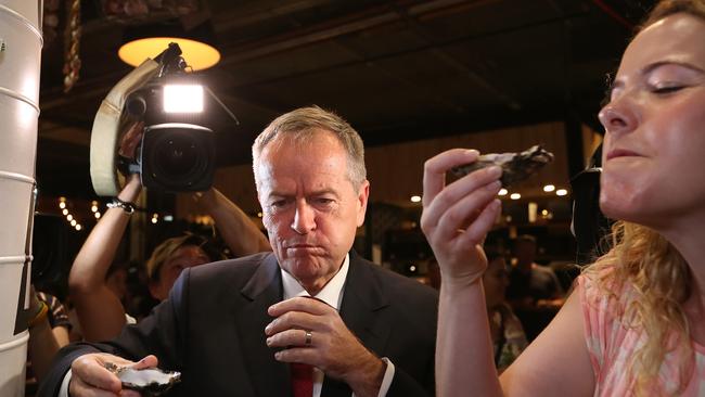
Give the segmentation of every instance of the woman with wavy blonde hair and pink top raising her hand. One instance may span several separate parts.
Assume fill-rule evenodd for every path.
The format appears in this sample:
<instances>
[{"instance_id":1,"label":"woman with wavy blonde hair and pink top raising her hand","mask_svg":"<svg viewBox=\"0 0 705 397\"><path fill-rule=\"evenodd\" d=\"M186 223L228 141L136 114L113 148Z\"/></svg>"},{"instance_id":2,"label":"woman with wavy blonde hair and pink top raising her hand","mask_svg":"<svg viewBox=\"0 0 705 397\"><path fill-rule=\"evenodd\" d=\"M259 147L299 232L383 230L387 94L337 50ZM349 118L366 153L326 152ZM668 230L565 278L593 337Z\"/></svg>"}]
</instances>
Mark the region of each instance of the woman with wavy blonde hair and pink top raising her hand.
<instances>
[{"instance_id":1,"label":"woman with wavy blonde hair and pink top raising her hand","mask_svg":"<svg viewBox=\"0 0 705 397\"><path fill-rule=\"evenodd\" d=\"M703 395L705 390L705 0L661 1L628 46L600 112L600 206L614 247L502 373L492 366L482 248L501 169L449 185L476 151L426 162L421 225L438 259L440 396Z\"/></svg>"}]
</instances>

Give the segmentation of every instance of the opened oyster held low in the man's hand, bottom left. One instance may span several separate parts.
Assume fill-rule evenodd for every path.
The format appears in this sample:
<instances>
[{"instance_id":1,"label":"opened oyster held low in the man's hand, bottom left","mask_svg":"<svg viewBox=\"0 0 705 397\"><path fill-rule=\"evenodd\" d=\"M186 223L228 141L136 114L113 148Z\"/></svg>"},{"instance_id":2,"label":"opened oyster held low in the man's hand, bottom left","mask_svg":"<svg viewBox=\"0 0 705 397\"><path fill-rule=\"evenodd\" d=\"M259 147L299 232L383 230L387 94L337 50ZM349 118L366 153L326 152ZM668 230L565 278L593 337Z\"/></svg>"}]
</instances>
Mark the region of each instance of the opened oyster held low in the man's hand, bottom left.
<instances>
[{"instance_id":1,"label":"opened oyster held low in the man's hand, bottom left","mask_svg":"<svg viewBox=\"0 0 705 397\"><path fill-rule=\"evenodd\" d=\"M105 368L117 375L123 387L138 390L144 396L159 396L181 381L180 372L162 371L158 368L136 370L106 362Z\"/></svg>"}]
</instances>

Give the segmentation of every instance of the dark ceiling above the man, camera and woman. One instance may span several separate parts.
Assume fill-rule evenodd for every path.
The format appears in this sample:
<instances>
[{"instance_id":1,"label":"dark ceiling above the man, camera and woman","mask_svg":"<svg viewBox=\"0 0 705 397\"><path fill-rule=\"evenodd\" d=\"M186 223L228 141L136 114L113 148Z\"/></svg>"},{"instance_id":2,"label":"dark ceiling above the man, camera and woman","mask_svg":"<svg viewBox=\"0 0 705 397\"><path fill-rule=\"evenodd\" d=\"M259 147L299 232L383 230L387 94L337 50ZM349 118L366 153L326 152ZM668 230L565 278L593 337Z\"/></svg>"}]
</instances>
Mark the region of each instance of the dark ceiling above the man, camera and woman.
<instances>
[{"instance_id":1,"label":"dark ceiling above the man, camera and woman","mask_svg":"<svg viewBox=\"0 0 705 397\"><path fill-rule=\"evenodd\" d=\"M174 1L171 1L174 2ZM194 1L176 1L194 2ZM201 0L221 62L203 73L240 125L218 131L218 164L249 163L277 115L334 110L366 145L566 117L595 126L605 74L653 1ZM46 1L47 3L47 1ZM50 1L51 3L51 1ZM42 54L37 178L49 195L91 197L90 129L130 67L117 57L124 22L82 1L80 78L63 89L63 28ZM169 3L169 1L164 1ZM164 13L130 18L136 25ZM191 21L189 21L191 18Z\"/></svg>"}]
</instances>

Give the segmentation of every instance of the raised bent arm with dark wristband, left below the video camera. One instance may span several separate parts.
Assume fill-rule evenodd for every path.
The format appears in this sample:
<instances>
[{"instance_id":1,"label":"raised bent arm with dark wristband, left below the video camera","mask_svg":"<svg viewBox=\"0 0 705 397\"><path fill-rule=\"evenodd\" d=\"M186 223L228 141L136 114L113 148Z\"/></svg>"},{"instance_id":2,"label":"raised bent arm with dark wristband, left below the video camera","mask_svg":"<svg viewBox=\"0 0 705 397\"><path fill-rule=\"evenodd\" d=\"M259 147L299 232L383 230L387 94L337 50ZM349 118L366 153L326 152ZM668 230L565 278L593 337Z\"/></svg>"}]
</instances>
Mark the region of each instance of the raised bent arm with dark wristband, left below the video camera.
<instances>
[{"instance_id":1,"label":"raised bent arm with dark wristband, left below the video camera","mask_svg":"<svg viewBox=\"0 0 705 397\"><path fill-rule=\"evenodd\" d=\"M117 198L132 203L140 190L140 176L130 175ZM125 325L125 308L107 287L105 276L129 219L127 210L108 208L86 239L68 274L70 297L86 341L112 340Z\"/></svg>"}]
</instances>

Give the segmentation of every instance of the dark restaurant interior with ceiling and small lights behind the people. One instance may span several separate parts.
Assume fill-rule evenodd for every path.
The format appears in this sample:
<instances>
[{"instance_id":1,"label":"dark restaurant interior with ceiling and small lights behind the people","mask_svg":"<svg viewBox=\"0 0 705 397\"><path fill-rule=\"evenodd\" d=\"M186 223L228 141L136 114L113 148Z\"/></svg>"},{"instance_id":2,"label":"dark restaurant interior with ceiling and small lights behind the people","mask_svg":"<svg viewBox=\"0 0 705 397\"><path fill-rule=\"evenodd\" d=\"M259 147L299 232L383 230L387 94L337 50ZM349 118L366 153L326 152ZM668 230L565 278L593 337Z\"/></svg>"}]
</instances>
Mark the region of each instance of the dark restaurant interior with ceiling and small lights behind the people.
<instances>
[{"instance_id":1,"label":"dark restaurant interior with ceiling and small lights behind the people","mask_svg":"<svg viewBox=\"0 0 705 397\"><path fill-rule=\"evenodd\" d=\"M221 57L198 73L240 120L217 131L215 187L259 222L254 138L297 106L333 110L367 146L371 197L357 249L423 276L432 257L419 229L423 162L457 146L515 152L540 143L553 152L551 165L501 196L497 230L536 235L540 262L575 260L569 180L601 141L605 76L653 1L196 0L175 2L192 7L177 10L178 20L166 0L113 13L108 3L44 0L38 210L66 219L62 266L110 201L91 188L89 143L100 102L131 69L118 48L134 29L178 21L214 34ZM66 69L67 55L80 68ZM68 89L72 69L79 77ZM142 261L179 228L209 230L189 194L148 192L141 205L125 258Z\"/></svg>"}]
</instances>

